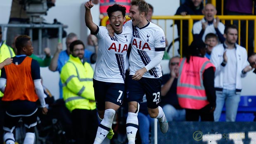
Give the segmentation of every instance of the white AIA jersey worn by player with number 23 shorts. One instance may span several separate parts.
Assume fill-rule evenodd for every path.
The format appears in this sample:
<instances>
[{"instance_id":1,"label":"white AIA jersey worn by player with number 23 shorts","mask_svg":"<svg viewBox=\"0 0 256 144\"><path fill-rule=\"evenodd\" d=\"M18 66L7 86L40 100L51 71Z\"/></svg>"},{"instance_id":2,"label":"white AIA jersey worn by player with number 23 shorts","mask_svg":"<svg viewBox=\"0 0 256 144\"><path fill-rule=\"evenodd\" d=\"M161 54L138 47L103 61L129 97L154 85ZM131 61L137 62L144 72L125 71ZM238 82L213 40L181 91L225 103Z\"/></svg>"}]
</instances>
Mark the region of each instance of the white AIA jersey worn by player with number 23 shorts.
<instances>
[{"instance_id":1,"label":"white AIA jersey worn by player with number 23 shorts","mask_svg":"<svg viewBox=\"0 0 256 144\"><path fill-rule=\"evenodd\" d=\"M129 57L130 75L145 67L154 57L155 51L165 51L164 31L154 23L138 28L132 21L127 21L125 26L132 28L132 49ZM159 78L162 76L160 63L151 70L145 72L143 77Z\"/></svg>"}]
</instances>

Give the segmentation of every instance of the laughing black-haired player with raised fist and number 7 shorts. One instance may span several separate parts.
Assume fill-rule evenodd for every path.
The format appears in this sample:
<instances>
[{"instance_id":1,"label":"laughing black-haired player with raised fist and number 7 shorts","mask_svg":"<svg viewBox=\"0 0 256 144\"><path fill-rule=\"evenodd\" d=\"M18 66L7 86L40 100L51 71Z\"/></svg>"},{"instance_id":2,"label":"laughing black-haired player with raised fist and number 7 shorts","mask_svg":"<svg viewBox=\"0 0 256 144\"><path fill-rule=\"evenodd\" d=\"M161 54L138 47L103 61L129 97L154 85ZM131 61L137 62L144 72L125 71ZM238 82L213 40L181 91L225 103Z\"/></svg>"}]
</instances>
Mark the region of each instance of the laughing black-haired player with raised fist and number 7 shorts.
<instances>
[{"instance_id":1,"label":"laughing black-haired player with raised fist and number 7 shorts","mask_svg":"<svg viewBox=\"0 0 256 144\"><path fill-rule=\"evenodd\" d=\"M123 27L126 21L126 7L112 5L107 9L109 22L114 28L110 37L106 27L97 26L92 21L91 0L85 3L85 23L91 34L98 38L98 54L93 75L93 87L99 117L102 119L94 144L101 144L105 137L112 133L113 118L116 110L123 103L125 91L125 60L128 46L132 39L132 29ZM108 135L111 139L113 135Z\"/></svg>"}]
</instances>

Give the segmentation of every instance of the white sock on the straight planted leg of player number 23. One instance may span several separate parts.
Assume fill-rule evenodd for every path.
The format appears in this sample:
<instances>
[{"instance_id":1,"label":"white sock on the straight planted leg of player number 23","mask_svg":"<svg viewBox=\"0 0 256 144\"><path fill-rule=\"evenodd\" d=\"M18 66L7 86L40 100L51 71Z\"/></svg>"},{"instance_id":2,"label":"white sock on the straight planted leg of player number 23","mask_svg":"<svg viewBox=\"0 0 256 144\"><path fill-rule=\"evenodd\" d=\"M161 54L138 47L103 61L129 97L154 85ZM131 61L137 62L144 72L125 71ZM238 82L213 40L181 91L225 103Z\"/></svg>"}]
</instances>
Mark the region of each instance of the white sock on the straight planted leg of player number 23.
<instances>
[{"instance_id":1,"label":"white sock on the straight planted leg of player number 23","mask_svg":"<svg viewBox=\"0 0 256 144\"><path fill-rule=\"evenodd\" d=\"M138 130L138 114L133 112L128 112L126 120L126 134L128 139L128 144L135 144L135 137Z\"/></svg>"}]
</instances>

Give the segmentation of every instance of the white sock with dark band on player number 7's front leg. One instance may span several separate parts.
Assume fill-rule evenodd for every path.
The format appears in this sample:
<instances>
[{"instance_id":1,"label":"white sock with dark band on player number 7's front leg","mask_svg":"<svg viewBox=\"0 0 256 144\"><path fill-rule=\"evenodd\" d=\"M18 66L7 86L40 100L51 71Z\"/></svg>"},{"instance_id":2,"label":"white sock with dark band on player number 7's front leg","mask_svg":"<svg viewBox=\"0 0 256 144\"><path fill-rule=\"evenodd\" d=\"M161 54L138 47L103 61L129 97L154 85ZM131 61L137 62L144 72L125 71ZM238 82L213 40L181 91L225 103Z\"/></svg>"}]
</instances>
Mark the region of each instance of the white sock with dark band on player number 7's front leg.
<instances>
[{"instance_id":1,"label":"white sock with dark band on player number 7's front leg","mask_svg":"<svg viewBox=\"0 0 256 144\"><path fill-rule=\"evenodd\" d=\"M109 133L109 129L112 128L113 118L116 114L114 109L106 109L104 118L98 127L95 141L93 144L101 144Z\"/></svg>"}]
</instances>

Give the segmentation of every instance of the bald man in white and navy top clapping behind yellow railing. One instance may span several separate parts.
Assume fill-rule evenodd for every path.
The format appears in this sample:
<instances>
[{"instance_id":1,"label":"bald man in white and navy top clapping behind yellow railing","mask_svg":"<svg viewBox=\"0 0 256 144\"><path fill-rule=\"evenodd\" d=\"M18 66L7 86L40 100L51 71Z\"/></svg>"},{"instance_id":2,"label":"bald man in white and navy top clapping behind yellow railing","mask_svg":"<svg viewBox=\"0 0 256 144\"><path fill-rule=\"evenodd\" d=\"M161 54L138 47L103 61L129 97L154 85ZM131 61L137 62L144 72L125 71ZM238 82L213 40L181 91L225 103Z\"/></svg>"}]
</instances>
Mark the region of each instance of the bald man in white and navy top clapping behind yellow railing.
<instances>
[{"instance_id":1,"label":"bald man in white and navy top clapping behind yellow railing","mask_svg":"<svg viewBox=\"0 0 256 144\"><path fill-rule=\"evenodd\" d=\"M206 4L202 13L204 18L193 25L193 38L205 41L205 36L208 33L215 33L218 35L219 41L223 43L225 41L223 37L225 26L218 17L214 19L214 16L217 14L216 8L212 4Z\"/></svg>"}]
</instances>

